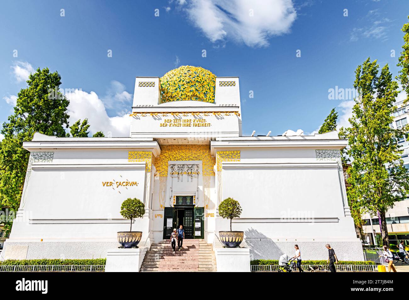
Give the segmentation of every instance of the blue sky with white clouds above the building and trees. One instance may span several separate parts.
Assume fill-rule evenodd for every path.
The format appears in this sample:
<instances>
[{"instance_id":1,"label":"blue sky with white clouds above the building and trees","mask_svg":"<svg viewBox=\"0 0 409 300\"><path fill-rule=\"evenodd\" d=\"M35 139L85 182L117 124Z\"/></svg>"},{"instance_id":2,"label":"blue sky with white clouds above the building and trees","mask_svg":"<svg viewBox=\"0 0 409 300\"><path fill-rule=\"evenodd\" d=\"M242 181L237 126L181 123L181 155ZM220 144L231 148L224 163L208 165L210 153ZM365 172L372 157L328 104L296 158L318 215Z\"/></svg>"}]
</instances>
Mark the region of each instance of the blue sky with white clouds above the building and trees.
<instances>
[{"instance_id":1,"label":"blue sky with white clouds above the building and trees","mask_svg":"<svg viewBox=\"0 0 409 300\"><path fill-rule=\"evenodd\" d=\"M328 89L351 88L367 57L397 74L408 8L407 0L2 1L0 124L27 74L49 67L61 88L81 89L71 95L71 124L88 117L91 133L126 136L135 76L189 64L240 77L244 135L311 133L333 107L346 125L352 101L329 100Z\"/></svg>"}]
</instances>

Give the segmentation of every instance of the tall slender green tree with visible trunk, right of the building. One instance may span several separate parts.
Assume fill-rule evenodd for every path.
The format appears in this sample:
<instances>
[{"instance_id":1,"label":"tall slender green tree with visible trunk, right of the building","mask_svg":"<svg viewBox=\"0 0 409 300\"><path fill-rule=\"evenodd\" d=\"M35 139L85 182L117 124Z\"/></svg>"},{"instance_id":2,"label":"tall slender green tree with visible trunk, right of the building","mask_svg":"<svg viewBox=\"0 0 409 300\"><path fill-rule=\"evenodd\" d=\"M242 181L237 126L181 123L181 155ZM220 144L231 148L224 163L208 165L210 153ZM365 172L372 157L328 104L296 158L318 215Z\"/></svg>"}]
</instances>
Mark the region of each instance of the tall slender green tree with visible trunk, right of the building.
<instances>
[{"instance_id":1,"label":"tall slender green tree with visible trunk, right of the building","mask_svg":"<svg viewBox=\"0 0 409 300\"><path fill-rule=\"evenodd\" d=\"M385 213L396 198L407 195L409 175L400 158L396 138L405 130L393 129L393 103L398 95L398 83L392 80L388 65L379 72L377 61L368 58L355 71L354 99L351 127L346 129L348 155L353 162L348 173L348 200L360 213L378 216L382 240L389 245ZM357 216L355 216L357 217Z\"/></svg>"}]
</instances>

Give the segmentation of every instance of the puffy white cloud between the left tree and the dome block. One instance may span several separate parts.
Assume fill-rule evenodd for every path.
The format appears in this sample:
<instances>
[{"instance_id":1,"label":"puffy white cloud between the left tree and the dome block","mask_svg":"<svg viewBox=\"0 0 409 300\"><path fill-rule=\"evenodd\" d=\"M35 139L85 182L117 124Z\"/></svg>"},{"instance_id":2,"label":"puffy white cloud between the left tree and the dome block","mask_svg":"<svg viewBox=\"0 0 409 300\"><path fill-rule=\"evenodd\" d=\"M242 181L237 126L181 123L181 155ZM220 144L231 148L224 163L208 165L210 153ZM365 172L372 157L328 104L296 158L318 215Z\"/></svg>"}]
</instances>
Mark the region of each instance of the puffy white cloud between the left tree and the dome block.
<instances>
[{"instance_id":1,"label":"puffy white cloud between the left tree and the dome block","mask_svg":"<svg viewBox=\"0 0 409 300\"><path fill-rule=\"evenodd\" d=\"M103 131L105 136L129 137L132 118L128 113L109 117L104 102L93 91L87 93L85 91L76 90L66 96L70 99L70 105L67 111L70 115L70 124L73 124L79 119L83 120L88 118L88 123L91 125L90 135L97 131ZM125 98L127 98L127 96L125 96Z\"/></svg>"}]
</instances>

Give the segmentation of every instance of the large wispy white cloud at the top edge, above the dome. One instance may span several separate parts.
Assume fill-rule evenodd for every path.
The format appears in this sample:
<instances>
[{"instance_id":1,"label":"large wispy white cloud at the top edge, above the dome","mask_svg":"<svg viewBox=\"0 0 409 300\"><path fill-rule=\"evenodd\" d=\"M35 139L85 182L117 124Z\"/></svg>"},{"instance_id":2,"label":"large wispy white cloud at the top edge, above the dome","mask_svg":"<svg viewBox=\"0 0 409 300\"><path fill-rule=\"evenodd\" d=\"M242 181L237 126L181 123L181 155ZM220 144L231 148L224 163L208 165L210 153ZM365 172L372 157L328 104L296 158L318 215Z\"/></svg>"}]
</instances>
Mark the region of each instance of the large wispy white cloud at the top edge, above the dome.
<instances>
[{"instance_id":1,"label":"large wispy white cloud at the top edge, above the dome","mask_svg":"<svg viewBox=\"0 0 409 300\"><path fill-rule=\"evenodd\" d=\"M271 36L288 33L297 17L292 0L190 0L179 4L211 42L231 38L250 47L267 46Z\"/></svg>"}]
</instances>

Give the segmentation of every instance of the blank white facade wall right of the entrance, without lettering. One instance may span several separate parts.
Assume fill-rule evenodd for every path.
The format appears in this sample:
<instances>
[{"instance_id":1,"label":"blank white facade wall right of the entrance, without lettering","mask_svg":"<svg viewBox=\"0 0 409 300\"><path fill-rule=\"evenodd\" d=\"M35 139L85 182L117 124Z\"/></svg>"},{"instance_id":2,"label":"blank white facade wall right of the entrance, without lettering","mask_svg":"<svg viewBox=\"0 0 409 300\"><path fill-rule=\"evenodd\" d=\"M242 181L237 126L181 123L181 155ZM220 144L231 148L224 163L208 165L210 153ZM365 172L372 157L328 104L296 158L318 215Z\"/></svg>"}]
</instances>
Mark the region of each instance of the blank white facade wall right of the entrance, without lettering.
<instances>
[{"instance_id":1,"label":"blank white facade wall right of the entrance, without lettering","mask_svg":"<svg viewBox=\"0 0 409 300\"><path fill-rule=\"evenodd\" d=\"M338 248L339 259L363 259L336 160L317 159L309 147L237 149L239 161L222 162L222 200L240 202L232 230L244 231L253 259L277 259L294 244L304 245L306 259L323 259L326 243ZM216 218L216 232L229 226Z\"/></svg>"}]
</instances>

